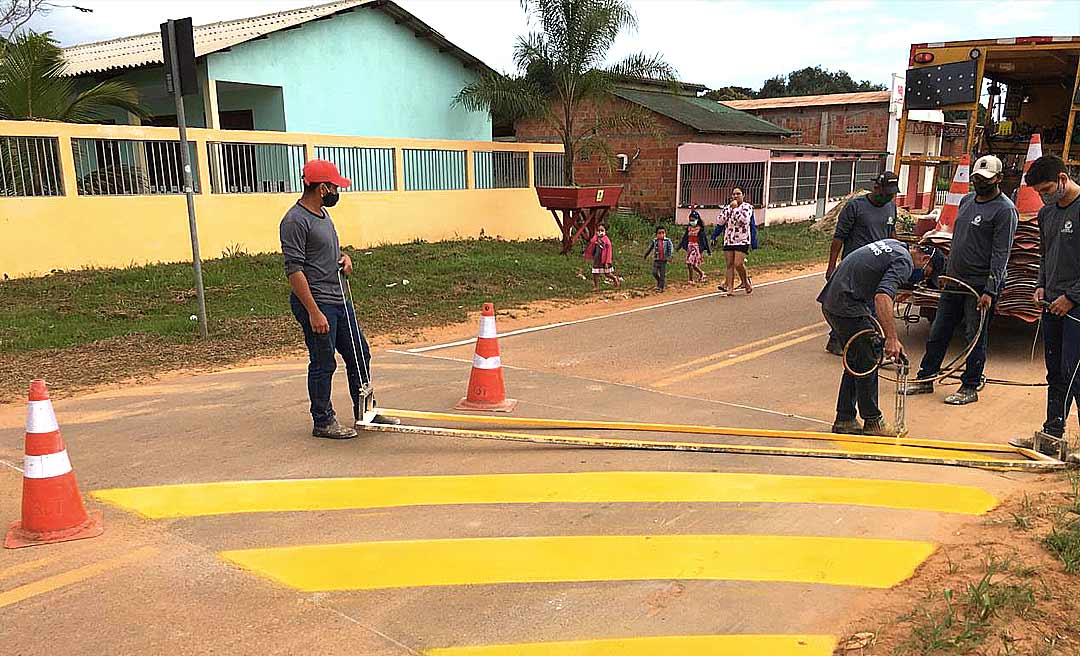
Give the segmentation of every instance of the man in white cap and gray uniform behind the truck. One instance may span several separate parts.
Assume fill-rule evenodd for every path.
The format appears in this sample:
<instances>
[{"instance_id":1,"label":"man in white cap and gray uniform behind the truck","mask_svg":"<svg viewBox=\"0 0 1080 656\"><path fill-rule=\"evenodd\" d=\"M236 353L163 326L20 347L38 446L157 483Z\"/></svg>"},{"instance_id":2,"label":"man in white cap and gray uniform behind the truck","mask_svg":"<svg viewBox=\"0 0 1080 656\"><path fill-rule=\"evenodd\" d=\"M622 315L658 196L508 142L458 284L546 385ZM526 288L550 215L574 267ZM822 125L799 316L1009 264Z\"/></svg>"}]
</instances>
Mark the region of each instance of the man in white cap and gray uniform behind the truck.
<instances>
[{"instance_id":1,"label":"man in white cap and gray uniform behind the truck","mask_svg":"<svg viewBox=\"0 0 1080 656\"><path fill-rule=\"evenodd\" d=\"M1016 206L998 189L1001 169L1001 160L993 155L983 156L975 161L971 172L971 184L975 191L960 200L953 227L953 244L945 273L971 285L978 297L973 298L970 294L962 293L962 287L958 285L943 285L937 313L927 339L927 352L919 366L919 378L937 375L953 339L953 332L958 325L963 325L968 343L976 340L964 363L960 389L945 397L945 402L949 405L966 405L978 401L994 300L1004 283L1009 252L1016 233ZM983 311L986 311L986 321L982 332L978 332L980 314ZM933 391L933 383L912 383L907 386L908 394L928 394Z\"/></svg>"}]
</instances>

